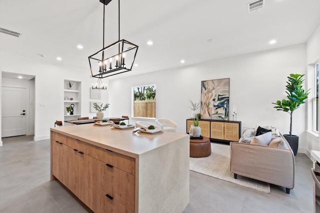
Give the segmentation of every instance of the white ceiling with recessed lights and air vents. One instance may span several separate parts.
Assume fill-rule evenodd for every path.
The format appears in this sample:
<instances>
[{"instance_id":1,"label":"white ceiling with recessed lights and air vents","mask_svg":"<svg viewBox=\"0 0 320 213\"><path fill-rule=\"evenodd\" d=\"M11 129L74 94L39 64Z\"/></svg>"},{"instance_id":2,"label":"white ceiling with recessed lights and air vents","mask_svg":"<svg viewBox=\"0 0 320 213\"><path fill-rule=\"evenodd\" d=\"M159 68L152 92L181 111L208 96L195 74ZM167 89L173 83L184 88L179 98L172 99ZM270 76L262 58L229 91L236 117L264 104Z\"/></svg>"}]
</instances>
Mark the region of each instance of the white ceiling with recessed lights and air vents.
<instances>
[{"instance_id":1,"label":"white ceiling with recessed lights and air vents","mask_svg":"<svg viewBox=\"0 0 320 213\"><path fill-rule=\"evenodd\" d=\"M118 77L304 43L320 24L320 0L265 1L248 13L251 0L121 0L120 39L139 49L138 66ZM110 44L118 37L117 0L105 8ZM99 0L0 0L0 27L22 33L0 33L0 50L87 69L89 75L87 57L102 48L102 12ZM277 42L268 44L271 39Z\"/></svg>"}]
</instances>

